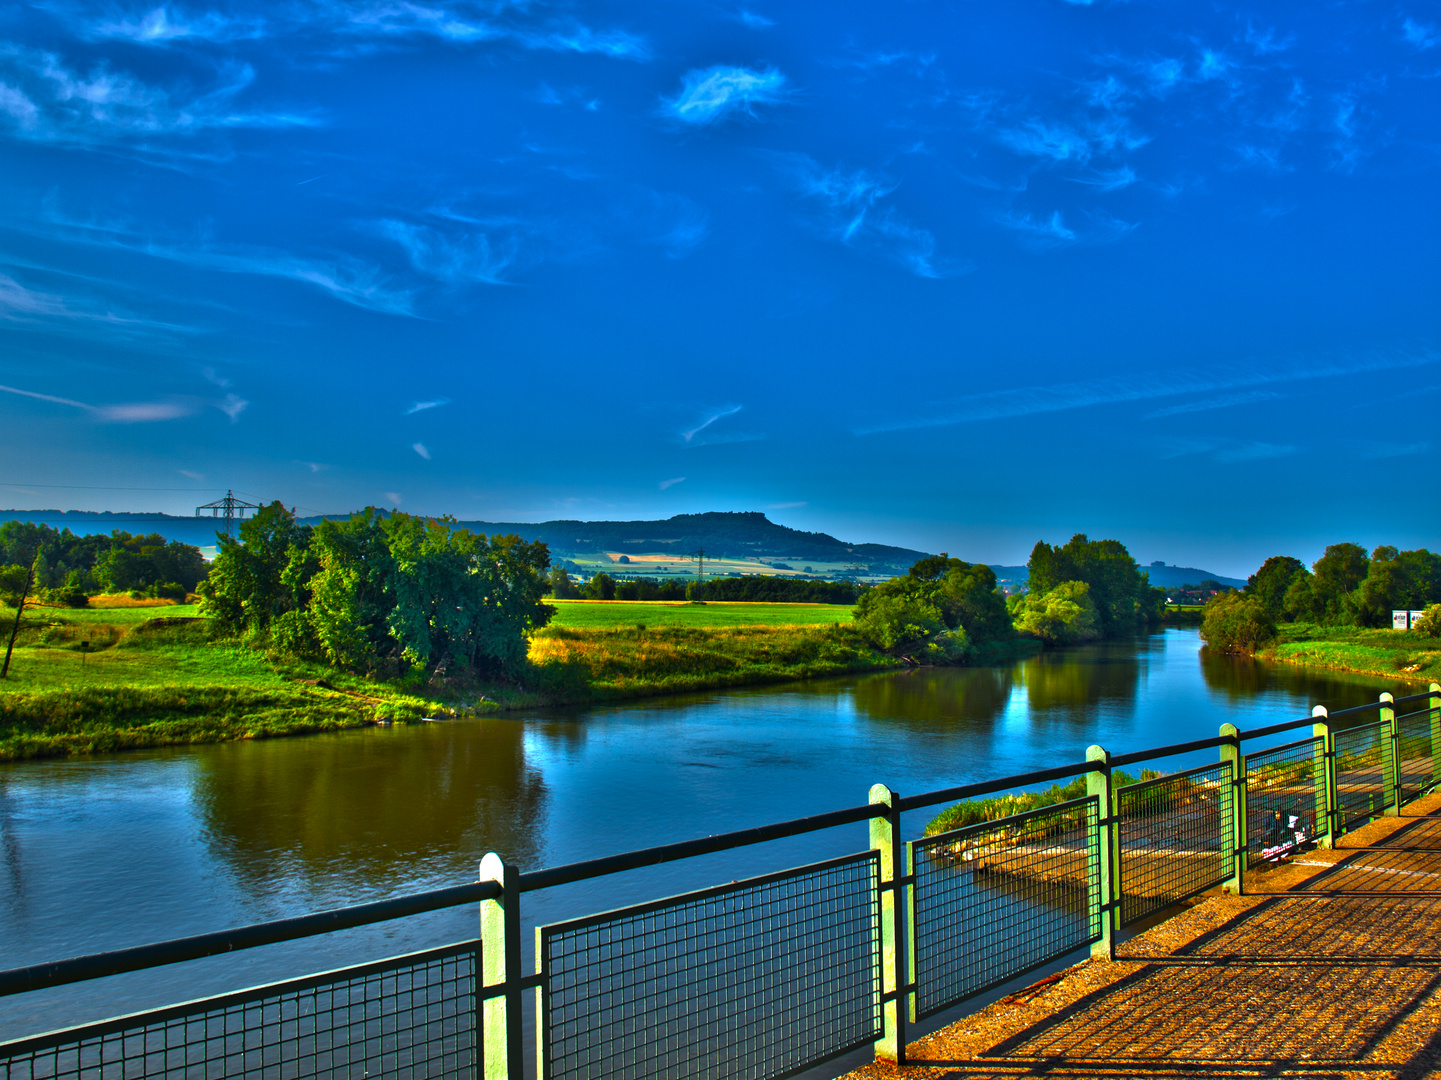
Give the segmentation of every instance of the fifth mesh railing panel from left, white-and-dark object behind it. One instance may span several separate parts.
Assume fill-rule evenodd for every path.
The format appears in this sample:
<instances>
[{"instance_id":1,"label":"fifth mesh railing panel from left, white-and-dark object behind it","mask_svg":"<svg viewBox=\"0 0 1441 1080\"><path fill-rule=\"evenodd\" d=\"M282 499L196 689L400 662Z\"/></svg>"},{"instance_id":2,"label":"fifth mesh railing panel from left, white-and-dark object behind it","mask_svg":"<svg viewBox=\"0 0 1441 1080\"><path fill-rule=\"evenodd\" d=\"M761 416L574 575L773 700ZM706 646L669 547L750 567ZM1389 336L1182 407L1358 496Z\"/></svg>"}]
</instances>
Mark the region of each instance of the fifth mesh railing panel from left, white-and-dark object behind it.
<instances>
[{"instance_id":1,"label":"fifth mesh railing panel from left, white-and-dark object behind it","mask_svg":"<svg viewBox=\"0 0 1441 1080\"><path fill-rule=\"evenodd\" d=\"M1326 833L1326 740L1303 738L1246 754L1246 857L1281 858ZM1321 800L1320 803L1317 800Z\"/></svg>"}]
</instances>

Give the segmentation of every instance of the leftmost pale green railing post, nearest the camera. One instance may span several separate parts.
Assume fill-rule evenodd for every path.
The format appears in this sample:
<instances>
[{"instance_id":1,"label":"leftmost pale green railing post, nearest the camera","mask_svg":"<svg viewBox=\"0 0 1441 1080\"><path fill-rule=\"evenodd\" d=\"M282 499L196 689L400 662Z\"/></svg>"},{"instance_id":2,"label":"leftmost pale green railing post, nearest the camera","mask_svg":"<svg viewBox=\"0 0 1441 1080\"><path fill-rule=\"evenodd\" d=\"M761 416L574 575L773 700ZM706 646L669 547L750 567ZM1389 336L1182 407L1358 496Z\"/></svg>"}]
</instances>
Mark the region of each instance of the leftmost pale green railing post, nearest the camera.
<instances>
[{"instance_id":1,"label":"leftmost pale green railing post, nearest the camera","mask_svg":"<svg viewBox=\"0 0 1441 1080\"><path fill-rule=\"evenodd\" d=\"M500 884L500 900L480 901L480 986L504 993L481 1005L480 1080L523 1080L520 1047L520 874L496 852L480 862L480 880ZM478 988L477 988L478 991Z\"/></svg>"}]
</instances>

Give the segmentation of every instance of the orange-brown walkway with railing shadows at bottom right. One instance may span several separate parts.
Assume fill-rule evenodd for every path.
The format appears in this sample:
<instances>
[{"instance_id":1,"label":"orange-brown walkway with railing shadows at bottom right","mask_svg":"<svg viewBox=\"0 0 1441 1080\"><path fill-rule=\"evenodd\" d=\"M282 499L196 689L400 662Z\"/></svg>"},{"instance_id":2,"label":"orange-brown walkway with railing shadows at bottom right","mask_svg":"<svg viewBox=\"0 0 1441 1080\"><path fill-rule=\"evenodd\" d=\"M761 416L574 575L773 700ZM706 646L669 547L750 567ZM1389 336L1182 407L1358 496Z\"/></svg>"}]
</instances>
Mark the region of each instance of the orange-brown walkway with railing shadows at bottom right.
<instances>
[{"instance_id":1,"label":"orange-brown walkway with railing shadows at bottom right","mask_svg":"<svg viewBox=\"0 0 1441 1080\"><path fill-rule=\"evenodd\" d=\"M1441 796L852 1077L1441 1076Z\"/></svg>"}]
</instances>

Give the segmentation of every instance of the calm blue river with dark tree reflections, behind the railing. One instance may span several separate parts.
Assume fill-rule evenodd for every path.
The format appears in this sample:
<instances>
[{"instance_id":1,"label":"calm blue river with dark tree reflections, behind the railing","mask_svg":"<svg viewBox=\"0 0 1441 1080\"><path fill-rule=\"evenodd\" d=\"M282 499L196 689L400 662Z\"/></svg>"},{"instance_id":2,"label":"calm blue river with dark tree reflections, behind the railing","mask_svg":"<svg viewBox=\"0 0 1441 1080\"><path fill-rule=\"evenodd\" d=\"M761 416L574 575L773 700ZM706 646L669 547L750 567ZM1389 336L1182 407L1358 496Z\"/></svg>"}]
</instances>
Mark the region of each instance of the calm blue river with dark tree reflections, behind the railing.
<instances>
[{"instance_id":1,"label":"calm blue river with dark tree reflections, behind the railing","mask_svg":"<svg viewBox=\"0 0 1441 1080\"><path fill-rule=\"evenodd\" d=\"M1375 701L1379 679L1208 656L1195 632L1010 666L0 766L0 966L556 865ZM1174 767L1176 763L1166 763ZM908 820L918 833L928 815ZM867 846L865 826L525 898L526 923ZM0 1038L474 934L458 908L0 999ZM526 934L529 937L529 933Z\"/></svg>"}]
</instances>

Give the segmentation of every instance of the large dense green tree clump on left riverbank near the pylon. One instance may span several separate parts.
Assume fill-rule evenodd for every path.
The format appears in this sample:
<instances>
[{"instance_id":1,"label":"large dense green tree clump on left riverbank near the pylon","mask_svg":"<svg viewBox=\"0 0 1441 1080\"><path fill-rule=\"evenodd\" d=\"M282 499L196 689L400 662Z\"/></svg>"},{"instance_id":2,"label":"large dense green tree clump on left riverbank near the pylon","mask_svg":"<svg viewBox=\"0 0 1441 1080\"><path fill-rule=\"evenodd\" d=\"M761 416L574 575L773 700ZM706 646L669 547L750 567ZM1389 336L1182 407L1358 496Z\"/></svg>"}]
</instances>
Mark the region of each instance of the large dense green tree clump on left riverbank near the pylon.
<instances>
[{"instance_id":1,"label":"large dense green tree clump on left riverbank near the pylon","mask_svg":"<svg viewBox=\"0 0 1441 1080\"><path fill-rule=\"evenodd\" d=\"M441 660L514 678L542 603L550 554L514 535L375 508L298 523L280 502L222 538L202 611L256 645L339 668L405 673Z\"/></svg>"}]
</instances>

